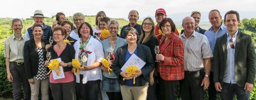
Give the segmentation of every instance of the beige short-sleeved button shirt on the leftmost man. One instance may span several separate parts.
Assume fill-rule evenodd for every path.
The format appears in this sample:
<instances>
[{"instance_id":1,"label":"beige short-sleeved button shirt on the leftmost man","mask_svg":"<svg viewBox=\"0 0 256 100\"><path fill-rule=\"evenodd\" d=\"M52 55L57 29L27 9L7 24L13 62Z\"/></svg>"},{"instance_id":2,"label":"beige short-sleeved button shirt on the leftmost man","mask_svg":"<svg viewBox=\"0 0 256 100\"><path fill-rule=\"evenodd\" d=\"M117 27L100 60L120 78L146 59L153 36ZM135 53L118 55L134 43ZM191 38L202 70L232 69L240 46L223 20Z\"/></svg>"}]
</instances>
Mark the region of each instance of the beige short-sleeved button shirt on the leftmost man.
<instances>
[{"instance_id":1,"label":"beige short-sleeved button shirt on the leftmost man","mask_svg":"<svg viewBox=\"0 0 256 100\"><path fill-rule=\"evenodd\" d=\"M4 42L4 57L10 58L9 61L23 62L24 43L29 40L25 36L20 39L15 38L15 35L10 36Z\"/></svg>"}]
</instances>

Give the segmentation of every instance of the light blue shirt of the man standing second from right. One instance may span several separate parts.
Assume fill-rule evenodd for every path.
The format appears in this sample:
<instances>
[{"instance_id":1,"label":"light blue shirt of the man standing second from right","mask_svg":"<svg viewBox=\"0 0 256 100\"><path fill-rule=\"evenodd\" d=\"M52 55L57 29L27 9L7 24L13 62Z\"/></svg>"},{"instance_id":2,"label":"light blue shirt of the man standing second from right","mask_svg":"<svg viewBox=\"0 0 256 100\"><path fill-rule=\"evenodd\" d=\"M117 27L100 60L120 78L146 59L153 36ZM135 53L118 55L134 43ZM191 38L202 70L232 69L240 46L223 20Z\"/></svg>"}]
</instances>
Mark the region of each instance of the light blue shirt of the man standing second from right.
<instances>
[{"instance_id":1,"label":"light blue shirt of the man standing second from right","mask_svg":"<svg viewBox=\"0 0 256 100\"><path fill-rule=\"evenodd\" d=\"M204 32L204 35L207 37L207 39L209 41L212 53L213 53L213 50L215 47L216 39L218 37L224 35L225 33L227 33L227 28L223 24L221 24L221 26L219 27L218 31L216 31L216 33L213 31L212 27Z\"/></svg>"}]
</instances>

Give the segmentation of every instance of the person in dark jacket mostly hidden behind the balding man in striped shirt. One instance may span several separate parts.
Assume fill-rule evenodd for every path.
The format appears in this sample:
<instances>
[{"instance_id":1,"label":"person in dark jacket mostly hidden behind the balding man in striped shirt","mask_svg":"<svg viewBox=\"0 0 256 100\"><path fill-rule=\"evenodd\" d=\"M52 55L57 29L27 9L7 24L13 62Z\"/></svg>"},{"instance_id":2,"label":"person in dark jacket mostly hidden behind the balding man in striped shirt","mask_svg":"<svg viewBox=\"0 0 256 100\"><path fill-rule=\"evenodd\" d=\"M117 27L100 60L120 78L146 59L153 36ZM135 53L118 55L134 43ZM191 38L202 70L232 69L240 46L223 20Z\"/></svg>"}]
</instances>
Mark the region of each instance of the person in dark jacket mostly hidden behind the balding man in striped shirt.
<instances>
[{"instance_id":1,"label":"person in dark jacket mostly hidden behind the balding man in striped shirt","mask_svg":"<svg viewBox=\"0 0 256 100\"><path fill-rule=\"evenodd\" d=\"M206 30L198 26L201 19L201 13L199 11L193 11L190 16L195 19L195 31L204 34ZM181 30L180 34L182 34L183 32L184 30Z\"/></svg>"}]
</instances>

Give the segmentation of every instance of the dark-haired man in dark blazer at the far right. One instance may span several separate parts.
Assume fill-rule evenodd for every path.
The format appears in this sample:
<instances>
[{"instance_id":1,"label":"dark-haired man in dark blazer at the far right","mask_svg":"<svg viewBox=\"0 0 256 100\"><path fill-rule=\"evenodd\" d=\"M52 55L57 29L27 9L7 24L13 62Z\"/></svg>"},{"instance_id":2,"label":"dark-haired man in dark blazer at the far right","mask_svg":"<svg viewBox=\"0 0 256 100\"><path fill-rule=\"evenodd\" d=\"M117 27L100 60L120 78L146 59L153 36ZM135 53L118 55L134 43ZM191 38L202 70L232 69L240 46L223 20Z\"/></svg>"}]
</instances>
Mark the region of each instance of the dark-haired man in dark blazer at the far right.
<instances>
[{"instance_id":1,"label":"dark-haired man in dark blazer at the far right","mask_svg":"<svg viewBox=\"0 0 256 100\"><path fill-rule=\"evenodd\" d=\"M213 81L223 100L249 100L256 73L252 37L238 30L239 14L228 11L224 17L227 33L217 38L214 48Z\"/></svg>"}]
</instances>

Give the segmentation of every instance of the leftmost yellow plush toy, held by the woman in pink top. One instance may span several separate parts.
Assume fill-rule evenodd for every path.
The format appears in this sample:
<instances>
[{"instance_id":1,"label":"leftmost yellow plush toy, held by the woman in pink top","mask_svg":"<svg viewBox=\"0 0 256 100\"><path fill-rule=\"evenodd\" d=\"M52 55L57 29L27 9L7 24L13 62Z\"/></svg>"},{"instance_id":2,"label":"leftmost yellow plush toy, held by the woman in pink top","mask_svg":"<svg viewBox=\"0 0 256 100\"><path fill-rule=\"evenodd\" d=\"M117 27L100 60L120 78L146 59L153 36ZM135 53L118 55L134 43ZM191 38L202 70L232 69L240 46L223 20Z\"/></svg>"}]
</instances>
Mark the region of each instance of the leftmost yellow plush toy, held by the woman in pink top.
<instances>
[{"instance_id":1,"label":"leftmost yellow plush toy, held by the woman in pink top","mask_svg":"<svg viewBox=\"0 0 256 100\"><path fill-rule=\"evenodd\" d=\"M55 59L55 60L52 60L50 63L49 63L49 66L48 68L50 69L50 71L47 73L47 75L49 75L49 73L54 70L56 72L56 74L59 76L61 74L61 68L59 66L60 62ZM56 69L58 68L58 71L56 71Z\"/></svg>"}]
</instances>

